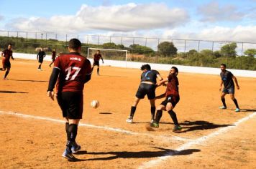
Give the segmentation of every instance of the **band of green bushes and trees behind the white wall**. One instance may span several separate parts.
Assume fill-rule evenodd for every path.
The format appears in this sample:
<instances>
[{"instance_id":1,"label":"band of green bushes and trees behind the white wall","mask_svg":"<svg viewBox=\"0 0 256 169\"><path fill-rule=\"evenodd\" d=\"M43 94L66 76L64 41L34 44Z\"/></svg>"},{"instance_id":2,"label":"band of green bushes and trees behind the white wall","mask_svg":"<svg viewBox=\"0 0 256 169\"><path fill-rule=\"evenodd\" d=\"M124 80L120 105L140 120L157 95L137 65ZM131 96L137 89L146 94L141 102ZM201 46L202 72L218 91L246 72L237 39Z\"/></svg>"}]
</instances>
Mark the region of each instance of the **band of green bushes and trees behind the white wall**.
<instances>
[{"instance_id":1,"label":"band of green bushes and trees behind the white wall","mask_svg":"<svg viewBox=\"0 0 256 169\"><path fill-rule=\"evenodd\" d=\"M17 37L0 37L0 48L3 50L7 45L13 44L14 52L37 54L37 47L47 47L56 49L57 52L67 52L67 42L56 39L24 39ZM256 70L256 49L247 49L244 56L237 57L237 44L230 43L221 47L219 51L203 49L196 51L191 49L188 52L178 53L178 49L173 42L161 42L157 46L157 51L140 44L131 44L124 47L123 44L82 44L82 54L87 55L88 47L104 49L126 49L129 51L129 60L136 62L152 62L163 64L180 64L199 67L219 67L221 63L227 64L229 69ZM46 52L51 53L51 50ZM124 60L125 52L101 51L105 59ZM92 56L90 52L89 56Z\"/></svg>"}]
</instances>

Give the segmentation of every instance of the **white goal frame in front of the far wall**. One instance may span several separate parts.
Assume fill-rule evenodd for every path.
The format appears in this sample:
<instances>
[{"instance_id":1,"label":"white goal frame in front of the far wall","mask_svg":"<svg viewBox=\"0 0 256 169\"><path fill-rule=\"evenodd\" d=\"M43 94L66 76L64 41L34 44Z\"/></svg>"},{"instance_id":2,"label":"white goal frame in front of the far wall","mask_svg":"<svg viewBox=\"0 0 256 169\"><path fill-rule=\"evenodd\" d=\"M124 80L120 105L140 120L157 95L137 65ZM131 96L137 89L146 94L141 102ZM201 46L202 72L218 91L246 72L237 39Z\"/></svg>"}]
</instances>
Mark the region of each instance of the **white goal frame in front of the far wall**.
<instances>
[{"instance_id":1,"label":"white goal frame in front of the far wall","mask_svg":"<svg viewBox=\"0 0 256 169\"><path fill-rule=\"evenodd\" d=\"M87 57L92 59L93 58L93 51L97 51L97 50L99 50L101 52L104 59L125 61L125 67L127 67L127 52L128 52L128 50L124 50L124 49L104 49L104 48L89 47L88 50L87 50ZM90 57L90 51L92 51L91 57ZM121 54L118 54L118 52L121 52ZM94 53L96 53L96 52L94 52Z\"/></svg>"}]
</instances>

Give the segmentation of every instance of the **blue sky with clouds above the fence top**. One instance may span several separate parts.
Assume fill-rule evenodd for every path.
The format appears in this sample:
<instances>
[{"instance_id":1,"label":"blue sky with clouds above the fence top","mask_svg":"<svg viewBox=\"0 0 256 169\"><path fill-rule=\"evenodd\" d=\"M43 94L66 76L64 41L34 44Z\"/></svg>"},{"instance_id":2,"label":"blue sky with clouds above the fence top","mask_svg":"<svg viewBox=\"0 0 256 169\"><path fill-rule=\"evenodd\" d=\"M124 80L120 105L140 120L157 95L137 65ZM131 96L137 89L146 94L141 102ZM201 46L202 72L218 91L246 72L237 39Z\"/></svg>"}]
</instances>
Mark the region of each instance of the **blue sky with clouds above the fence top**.
<instances>
[{"instance_id":1,"label":"blue sky with clouds above the fence top","mask_svg":"<svg viewBox=\"0 0 256 169\"><path fill-rule=\"evenodd\" d=\"M0 30L256 43L256 0L0 0Z\"/></svg>"}]
</instances>

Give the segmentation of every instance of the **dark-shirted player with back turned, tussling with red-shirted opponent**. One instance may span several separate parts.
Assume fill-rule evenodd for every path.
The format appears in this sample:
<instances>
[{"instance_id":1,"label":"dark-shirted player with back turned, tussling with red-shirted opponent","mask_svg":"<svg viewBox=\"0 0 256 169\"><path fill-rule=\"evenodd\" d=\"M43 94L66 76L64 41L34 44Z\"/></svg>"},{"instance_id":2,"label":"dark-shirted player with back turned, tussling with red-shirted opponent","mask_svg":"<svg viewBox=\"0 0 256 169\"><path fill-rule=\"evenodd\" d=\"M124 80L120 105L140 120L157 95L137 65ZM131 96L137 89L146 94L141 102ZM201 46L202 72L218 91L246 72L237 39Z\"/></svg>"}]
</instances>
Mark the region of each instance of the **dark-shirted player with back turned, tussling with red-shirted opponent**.
<instances>
[{"instance_id":1,"label":"dark-shirted player with back turned, tussling with red-shirted opponent","mask_svg":"<svg viewBox=\"0 0 256 169\"><path fill-rule=\"evenodd\" d=\"M140 68L143 72L141 75L140 86L137 90L136 97L131 107L131 112L127 122L132 123L134 113L136 111L136 107L141 99L147 95L148 100L150 100L151 105L151 121L153 122L155 118L155 88L157 87L157 78L162 80L163 78L160 76L159 72L151 69L150 64L144 64Z\"/></svg>"}]
</instances>

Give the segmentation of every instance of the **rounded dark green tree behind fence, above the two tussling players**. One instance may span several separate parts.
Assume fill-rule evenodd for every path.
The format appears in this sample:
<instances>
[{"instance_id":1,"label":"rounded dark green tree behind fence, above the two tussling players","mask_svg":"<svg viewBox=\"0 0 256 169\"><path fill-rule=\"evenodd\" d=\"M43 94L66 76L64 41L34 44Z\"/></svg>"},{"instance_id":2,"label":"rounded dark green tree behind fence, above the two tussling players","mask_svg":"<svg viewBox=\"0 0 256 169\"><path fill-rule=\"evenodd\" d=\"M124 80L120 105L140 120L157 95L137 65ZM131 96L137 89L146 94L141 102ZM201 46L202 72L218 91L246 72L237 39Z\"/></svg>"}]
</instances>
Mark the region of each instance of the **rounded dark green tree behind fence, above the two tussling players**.
<instances>
[{"instance_id":1,"label":"rounded dark green tree behind fence, above the two tussling players","mask_svg":"<svg viewBox=\"0 0 256 169\"><path fill-rule=\"evenodd\" d=\"M173 57L178 51L173 42L161 42L158 44L157 50L164 57Z\"/></svg>"}]
</instances>

